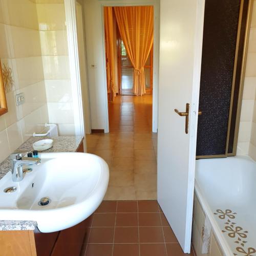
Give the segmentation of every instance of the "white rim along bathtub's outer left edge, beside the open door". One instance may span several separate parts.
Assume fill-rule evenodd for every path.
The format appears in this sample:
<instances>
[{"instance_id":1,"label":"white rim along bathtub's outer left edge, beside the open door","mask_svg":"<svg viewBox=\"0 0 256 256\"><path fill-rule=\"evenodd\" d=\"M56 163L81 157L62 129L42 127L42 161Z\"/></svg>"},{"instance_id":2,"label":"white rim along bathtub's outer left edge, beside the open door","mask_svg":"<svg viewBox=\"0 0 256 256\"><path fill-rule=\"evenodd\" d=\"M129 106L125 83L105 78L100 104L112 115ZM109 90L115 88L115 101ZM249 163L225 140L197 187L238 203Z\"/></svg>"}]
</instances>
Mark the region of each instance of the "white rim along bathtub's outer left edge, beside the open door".
<instances>
[{"instance_id":1,"label":"white rim along bathtub's outer left edge, beside the open door","mask_svg":"<svg viewBox=\"0 0 256 256\"><path fill-rule=\"evenodd\" d=\"M199 188L199 185L197 184L196 180L195 180L195 191L196 191L197 198L198 198L205 214L209 218L209 221L210 221L211 227L212 227L212 231L214 231L214 233L215 233L215 237L218 240L218 243L222 249L222 252L226 256L233 255L233 252L232 252L227 240L222 236L222 230L221 230L219 224L217 223L217 221L215 220L214 214L212 214L208 203L205 202L205 200L204 200L201 189Z\"/></svg>"}]
</instances>

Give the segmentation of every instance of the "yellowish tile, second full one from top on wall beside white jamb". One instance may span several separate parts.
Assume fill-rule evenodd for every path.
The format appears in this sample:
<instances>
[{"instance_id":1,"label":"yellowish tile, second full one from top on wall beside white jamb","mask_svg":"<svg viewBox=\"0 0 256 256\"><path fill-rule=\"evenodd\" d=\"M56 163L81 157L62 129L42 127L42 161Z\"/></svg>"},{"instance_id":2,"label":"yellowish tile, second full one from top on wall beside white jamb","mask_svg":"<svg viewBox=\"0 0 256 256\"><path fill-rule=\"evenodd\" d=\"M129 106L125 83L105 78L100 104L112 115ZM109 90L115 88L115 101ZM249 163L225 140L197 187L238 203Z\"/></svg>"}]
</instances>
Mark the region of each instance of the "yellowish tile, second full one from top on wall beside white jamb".
<instances>
[{"instance_id":1,"label":"yellowish tile, second full one from top on wall beside white jamb","mask_svg":"<svg viewBox=\"0 0 256 256\"><path fill-rule=\"evenodd\" d=\"M40 31L42 55L68 55L66 30Z\"/></svg>"}]
</instances>

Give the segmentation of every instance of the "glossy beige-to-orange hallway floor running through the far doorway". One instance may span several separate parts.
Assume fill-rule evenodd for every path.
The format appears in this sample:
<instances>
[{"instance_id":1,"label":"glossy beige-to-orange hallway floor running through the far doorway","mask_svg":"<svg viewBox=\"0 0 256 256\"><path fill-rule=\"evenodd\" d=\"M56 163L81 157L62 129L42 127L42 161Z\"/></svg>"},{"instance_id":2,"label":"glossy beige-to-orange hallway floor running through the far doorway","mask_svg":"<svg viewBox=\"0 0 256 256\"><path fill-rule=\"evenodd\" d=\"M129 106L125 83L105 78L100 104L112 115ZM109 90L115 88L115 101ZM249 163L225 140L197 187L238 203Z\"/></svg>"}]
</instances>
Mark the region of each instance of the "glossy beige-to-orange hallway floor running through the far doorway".
<instances>
[{"instance_id":1,"label":"glossy beige-to-orange hallway floor running through the far doorway","mask_svg":"<svg viewBox=\"0 0 256 256\"><path fill-rule=\"evenodd\" d=\"M152 95L117 96L109 103L109 134L87 135L88 152L110 168L104 200L157 199L157 134L152 133Z\"/></svg>"}]
</instances>

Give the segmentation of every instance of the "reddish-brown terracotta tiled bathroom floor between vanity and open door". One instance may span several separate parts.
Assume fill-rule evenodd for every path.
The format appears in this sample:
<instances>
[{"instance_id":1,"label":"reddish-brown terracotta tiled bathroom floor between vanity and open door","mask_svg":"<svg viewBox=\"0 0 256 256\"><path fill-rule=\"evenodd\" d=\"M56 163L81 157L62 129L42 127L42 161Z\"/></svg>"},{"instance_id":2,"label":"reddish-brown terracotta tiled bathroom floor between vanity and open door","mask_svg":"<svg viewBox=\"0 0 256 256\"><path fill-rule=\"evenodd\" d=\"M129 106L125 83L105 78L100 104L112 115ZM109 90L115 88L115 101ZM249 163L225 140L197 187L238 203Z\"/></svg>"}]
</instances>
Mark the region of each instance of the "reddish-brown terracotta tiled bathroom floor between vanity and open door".
<instances>
[{"instance_id":1,"label":"reddish-brown terracotta tiled bathroom floor between vanity and open door","mask_svg":"<svg viewBox=\"0 0 256 256\"><path fill-rule=\"evenodd\" d=\"M103 201L91 216L84 256L184 254L157 201Z\"/></svg>"}]
</instances>

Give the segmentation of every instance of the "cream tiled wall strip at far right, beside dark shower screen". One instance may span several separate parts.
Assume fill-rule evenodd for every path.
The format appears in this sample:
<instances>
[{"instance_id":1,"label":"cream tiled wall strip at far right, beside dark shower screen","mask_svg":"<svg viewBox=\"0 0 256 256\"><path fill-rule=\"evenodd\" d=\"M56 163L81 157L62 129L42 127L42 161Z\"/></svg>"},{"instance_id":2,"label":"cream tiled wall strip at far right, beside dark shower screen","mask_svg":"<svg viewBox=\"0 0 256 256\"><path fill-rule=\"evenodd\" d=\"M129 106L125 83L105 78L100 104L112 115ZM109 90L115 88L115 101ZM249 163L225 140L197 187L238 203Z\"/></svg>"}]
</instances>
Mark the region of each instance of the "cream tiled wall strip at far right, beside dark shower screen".
<instances>
[{"instance_id":1,"label":"cream tiled wall strip at far right, beside dark shower screen","mask_svg":"<svg viewBox=\"0 0 256 256\"><path fill-rule=\"evenodd\" d=\"M237 155L256 160L256 0L253 1Z\"/></svg>"}]
</instances>

